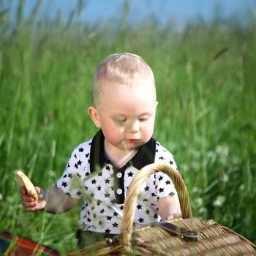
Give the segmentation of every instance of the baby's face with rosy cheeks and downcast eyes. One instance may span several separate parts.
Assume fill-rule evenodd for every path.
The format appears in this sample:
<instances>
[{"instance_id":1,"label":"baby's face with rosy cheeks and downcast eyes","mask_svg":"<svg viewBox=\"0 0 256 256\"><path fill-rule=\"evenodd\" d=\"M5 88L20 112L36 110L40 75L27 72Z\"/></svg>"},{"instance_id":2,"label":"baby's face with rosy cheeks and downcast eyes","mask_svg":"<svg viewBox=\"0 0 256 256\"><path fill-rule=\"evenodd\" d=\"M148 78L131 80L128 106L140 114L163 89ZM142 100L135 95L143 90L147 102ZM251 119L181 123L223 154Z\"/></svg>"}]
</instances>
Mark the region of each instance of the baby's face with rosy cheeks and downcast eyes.
<instances>
[{"instance_id":1,"label":"baby's face with rosy cheeks and downcast eyes","mask_svg":"<svg viewBox=\"0 0 256 256\"><path fill-rule=\"evenodd\" d=\"M105 82L94 109L94 124L105 135L105 146L123 151L138 148L153 135L157 108L154 83L141 79L135 86ZM92 111L92 110L91 110Z\"/></svg>"}]
</instances>

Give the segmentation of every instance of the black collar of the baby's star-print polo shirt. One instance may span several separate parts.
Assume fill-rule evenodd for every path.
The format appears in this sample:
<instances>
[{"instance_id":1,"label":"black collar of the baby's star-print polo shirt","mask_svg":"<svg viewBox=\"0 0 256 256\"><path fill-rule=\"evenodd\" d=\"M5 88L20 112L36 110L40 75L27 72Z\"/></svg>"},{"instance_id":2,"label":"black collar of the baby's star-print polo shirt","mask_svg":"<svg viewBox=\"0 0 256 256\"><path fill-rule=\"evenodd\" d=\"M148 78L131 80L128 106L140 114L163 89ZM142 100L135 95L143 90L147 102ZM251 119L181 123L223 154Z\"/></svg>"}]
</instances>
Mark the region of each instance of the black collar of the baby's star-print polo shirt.
<instances>
[{"instance_id":1,"label":"black collar of the baby's star-print polo shirt","mask_svg":"<svg viewBox=\"0 0 256 256\"><path fill-rule=\"evenodd\" d=\"M104 140L102 130L100 129L91 141L90 151L90 170L91 173L95 171L97 165L103 167L106 162L110 163L104 153ZM137 154L132 157L132 165L140 170L142 167L154 163L154 157L156 152L156 140L151 138L146 144L140 146Z\"/></svg>"}]
</instances>

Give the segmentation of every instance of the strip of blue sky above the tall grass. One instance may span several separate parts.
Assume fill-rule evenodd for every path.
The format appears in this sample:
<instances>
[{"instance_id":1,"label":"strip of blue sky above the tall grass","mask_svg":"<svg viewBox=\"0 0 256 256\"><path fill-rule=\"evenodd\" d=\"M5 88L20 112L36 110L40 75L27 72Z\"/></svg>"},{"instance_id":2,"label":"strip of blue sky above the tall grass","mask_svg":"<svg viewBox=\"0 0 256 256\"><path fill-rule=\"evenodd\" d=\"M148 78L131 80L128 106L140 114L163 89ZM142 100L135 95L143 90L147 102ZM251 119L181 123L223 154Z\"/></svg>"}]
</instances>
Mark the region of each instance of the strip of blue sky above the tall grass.
<instances>
[{"instance_id":1,"label":"strip of blue sky above the tall grass","mask_svg":"<svg viewBox=\"0 0 256 256\"><path fill-rule=\"evenodd\" d=\"M24 0L26 13L29 13L36 0ZM6 0L6 3L10 1ZM15 7L14 0L12 7ZM240 20L246 18L246 10L254 10L256 16L256 0L130 0L129 22L137 23L150 17L157 17L161 23L173 20L183 26L198 16L205 20L211 19L215 7L223 18L236 15ZM52 16L61 10L63 17L75 9L76 0L42 0L41 15ZM108 18L120 18L124 0L86 0L80 19L87 23L102 22ZM13 8L15 9L15 8Z\"/></svg>"}]
</instances>

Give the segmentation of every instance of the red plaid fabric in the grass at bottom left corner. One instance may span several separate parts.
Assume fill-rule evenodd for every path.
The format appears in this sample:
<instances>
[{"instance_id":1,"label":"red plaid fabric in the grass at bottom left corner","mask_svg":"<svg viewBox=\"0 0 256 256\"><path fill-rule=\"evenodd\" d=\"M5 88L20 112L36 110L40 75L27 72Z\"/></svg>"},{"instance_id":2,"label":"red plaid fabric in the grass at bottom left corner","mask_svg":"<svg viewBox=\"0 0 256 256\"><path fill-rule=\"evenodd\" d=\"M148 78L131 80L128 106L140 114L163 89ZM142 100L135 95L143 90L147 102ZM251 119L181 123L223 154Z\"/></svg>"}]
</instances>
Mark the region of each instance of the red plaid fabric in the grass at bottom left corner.
<instances>
[{"instance_id":1,"label":"red plaid fabric in the grass at bottom left corner","mask_svg":"<svg viewBox=\"0 0 256 256\"><path fill-rule=\"evenodd\" d=\"M48 246L42 246L34 241L12 236L10 233L0 234L0 253L6 256L58 256L59 252L50 249ZM3 251L4 250L4 251Z\"/></svg>"}]
</instances>

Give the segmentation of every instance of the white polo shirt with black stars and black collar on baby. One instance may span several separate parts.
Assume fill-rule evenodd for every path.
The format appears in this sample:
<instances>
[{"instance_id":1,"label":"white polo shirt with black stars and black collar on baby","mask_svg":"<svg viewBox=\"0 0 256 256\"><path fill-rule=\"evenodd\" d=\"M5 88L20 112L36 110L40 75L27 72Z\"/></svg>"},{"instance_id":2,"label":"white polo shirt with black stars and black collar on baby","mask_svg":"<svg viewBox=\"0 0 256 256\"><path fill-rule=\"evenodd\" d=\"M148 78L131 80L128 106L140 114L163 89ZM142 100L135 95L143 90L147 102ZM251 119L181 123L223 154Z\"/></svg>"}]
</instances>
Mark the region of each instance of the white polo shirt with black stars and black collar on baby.
<instances>
[{"instance_id":1,"label":"white polo shirt with black stars and black collar on baby","mask_svg":"<svg viewBox=\"0 0 256 256\"><path fill-rule=\"evenodd\" d=\"M101 130L72 152L63 175L56 182L70 197L83 198L80 227L100 233L120 233L124 198L132 178L151 163L163 163L178 170L173 155L151 138L125 165L117 168L107 159ZM176 195L170 178L162 172L152 174L143 184L136 204L135 227L159 218L159 198Z\"/></svg>"}]
</instances>

